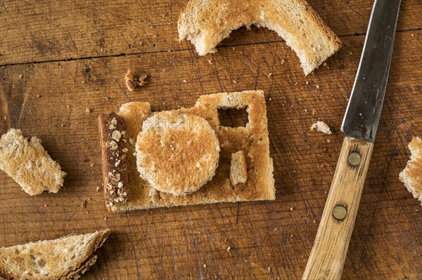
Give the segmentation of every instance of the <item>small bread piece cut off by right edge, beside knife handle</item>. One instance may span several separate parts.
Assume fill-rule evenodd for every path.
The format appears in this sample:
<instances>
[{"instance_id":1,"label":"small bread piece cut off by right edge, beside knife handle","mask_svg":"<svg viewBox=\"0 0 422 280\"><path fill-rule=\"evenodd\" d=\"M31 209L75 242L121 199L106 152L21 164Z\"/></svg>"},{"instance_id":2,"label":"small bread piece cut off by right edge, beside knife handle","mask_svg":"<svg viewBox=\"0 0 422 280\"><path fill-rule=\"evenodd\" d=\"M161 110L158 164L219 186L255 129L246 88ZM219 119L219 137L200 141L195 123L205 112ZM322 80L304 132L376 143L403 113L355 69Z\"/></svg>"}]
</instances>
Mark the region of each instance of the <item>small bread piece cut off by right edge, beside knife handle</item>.
<instances>
[{"instance_id":1,"label":"small bread piece cut off by right edge, beside knife handle","mask_svg":"<svg viewBox=\"0 0 422 280\"><path fill-rule=\"evenodd\" d=\"M422 140L415 137L409 143L411 156L406 168L399 174L400 181L422 206Z\"/></svg>"}]
</instances>

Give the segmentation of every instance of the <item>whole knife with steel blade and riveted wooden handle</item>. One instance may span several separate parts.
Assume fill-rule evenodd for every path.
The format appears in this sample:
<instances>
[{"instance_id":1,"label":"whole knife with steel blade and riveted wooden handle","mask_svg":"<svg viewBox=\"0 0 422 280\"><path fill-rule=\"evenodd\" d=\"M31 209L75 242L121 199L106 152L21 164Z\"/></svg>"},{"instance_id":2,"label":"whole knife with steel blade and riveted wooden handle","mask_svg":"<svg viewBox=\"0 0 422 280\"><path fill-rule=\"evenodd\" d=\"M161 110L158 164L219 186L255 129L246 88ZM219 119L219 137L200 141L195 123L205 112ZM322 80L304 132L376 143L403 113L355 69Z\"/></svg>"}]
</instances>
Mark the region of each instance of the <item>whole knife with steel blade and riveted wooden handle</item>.
<instances>
[{"instance_id":1,"label":"whole knife with steel blade and riveted wooden handle","mask_svg":"<svg viewBox=\"0 0 422 280\"><path fill-rule=\"evenodd\" d=\"M387 86L400 0L376 0L341 125L340 157L304 280L340 279Z\"/></svg>"}]
</instances>

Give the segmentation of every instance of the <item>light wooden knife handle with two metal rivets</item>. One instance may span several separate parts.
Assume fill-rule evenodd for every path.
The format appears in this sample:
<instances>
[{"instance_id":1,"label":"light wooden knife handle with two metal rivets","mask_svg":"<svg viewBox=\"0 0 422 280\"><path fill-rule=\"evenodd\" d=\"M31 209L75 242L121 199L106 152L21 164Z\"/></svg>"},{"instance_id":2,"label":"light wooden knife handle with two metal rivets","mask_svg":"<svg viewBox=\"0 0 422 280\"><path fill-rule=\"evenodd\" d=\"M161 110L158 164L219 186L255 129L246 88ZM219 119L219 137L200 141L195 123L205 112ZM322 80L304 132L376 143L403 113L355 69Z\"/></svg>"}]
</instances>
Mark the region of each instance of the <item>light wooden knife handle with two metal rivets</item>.
<instances>
[{"instance_id":1,"label":"light wooden knife handle with two metal rivets","mask_svg":"<svg viewBox=\"0 0 422 280\"><path fill-rule=\"evenodd\" d=\"M340 279L373 143L346 137L302 279Z\"/></svg>"}]
</instances>

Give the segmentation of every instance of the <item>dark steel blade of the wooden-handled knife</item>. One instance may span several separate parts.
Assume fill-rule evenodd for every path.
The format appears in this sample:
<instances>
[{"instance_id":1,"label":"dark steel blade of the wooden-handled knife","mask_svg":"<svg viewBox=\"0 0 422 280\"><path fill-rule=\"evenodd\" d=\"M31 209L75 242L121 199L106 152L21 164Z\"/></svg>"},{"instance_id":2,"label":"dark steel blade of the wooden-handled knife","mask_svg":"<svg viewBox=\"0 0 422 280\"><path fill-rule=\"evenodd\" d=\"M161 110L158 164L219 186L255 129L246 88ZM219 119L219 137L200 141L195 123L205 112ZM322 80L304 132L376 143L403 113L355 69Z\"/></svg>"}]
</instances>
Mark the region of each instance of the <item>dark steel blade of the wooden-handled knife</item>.
<instances>
[{"instance_id":1,"label":"dark steel blade of the wooden-handled knife","mask_svg":"<svg viewBox=\"0 0 422 280\"><path fill-rule=\"evenodd\" d=\"M400 0L378 0L341 125L346 136L373 142L387 87Z\"/></svg>"}]
</instances>

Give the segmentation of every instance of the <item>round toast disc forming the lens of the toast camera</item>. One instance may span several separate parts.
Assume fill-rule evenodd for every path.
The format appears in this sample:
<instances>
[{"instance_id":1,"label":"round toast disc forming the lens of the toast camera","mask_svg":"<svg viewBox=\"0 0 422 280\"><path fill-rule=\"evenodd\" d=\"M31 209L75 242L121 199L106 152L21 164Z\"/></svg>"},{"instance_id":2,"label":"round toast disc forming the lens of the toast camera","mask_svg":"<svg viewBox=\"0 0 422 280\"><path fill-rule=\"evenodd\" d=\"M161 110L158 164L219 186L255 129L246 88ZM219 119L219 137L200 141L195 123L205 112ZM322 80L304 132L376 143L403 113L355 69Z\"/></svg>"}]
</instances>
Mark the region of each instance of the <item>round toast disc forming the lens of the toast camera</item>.
<instances>
[{"instance_id":1,"label":"round toast disc forming the lens of the toast camera","mask_svg":"<svg viewBox=\"0 0 422 280\"><path fill-rule=\"evenodd\" d=\"M164 111L143 122L136 166L153 188L184 196L212 179L219 150L217 135L205 119Z\"/></svg>"}]
</instances>

